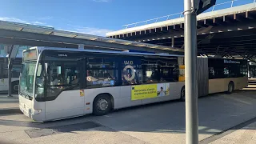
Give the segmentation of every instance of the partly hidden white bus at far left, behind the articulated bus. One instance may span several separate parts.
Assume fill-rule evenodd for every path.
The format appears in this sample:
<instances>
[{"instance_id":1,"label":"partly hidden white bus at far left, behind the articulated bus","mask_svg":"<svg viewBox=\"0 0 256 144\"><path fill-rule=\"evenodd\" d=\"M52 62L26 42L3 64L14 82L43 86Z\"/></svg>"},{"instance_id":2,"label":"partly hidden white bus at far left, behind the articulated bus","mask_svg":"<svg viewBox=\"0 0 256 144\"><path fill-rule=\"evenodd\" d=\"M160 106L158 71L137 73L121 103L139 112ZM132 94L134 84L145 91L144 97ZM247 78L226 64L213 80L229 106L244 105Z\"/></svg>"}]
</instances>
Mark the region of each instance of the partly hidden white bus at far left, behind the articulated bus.
<instances>
[{"instance_id":1,"label":"partly hidden white bus at far left, behind the articulated bus","mask_svg":"<svg viewBox=\"0 0 256 144\"><path fill-rule=\"evenodd\" d=\"M19 74L22 67L22 58L15 58L12 68L11 90L13 93L18 94ZM9 90L8 82L8 58L0 57L0 92Z\"/></svg>"}]
</instances>

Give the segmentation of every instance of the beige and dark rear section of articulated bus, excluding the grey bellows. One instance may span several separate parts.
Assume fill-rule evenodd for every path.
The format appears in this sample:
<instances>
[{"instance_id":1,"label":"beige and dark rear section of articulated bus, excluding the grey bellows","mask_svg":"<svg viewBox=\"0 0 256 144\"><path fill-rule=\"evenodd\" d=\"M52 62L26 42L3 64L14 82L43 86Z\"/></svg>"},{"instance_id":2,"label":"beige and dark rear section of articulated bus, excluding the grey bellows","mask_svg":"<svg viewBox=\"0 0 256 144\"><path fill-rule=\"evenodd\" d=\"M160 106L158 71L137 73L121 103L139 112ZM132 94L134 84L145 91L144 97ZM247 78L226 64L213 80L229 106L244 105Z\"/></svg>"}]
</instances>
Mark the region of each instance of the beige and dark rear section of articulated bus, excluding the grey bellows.
<instances>
[{"instance_id":1,"label":"beige and dark rear section of articulated bus, excluding the grey bellows","mask_svg":"<svg viewBox=\"0 0 256 144\"><path fill-rule=\"evenodd\" d=\"M246 59L209 58L209 94L228 92L248 86Z\"/></svg>"}]
</instances>

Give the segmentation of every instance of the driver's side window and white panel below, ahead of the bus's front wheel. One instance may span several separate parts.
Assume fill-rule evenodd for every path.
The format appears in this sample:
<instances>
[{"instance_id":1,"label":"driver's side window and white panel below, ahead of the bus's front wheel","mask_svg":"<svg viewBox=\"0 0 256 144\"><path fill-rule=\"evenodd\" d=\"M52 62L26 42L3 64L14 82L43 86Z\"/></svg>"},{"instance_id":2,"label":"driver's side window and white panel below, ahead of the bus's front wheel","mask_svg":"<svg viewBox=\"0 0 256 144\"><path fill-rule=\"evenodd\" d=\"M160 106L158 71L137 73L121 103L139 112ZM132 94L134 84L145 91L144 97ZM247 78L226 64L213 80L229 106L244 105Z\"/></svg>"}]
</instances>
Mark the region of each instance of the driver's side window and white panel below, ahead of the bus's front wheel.
<instances>
[{"instance_id":1,"label":"driver's side window and white panel below, ahead of the bus's front wheel","mask_svg":"<svg viewBox=\"0 0 256 144\"><path fill-rule=\"evenodd\" d=\"M84 114L85 100L80 94L80 68L76 62L55 62L47 71L46 119ZM82 66L82 64L80 65Z\"/></svg>"}]
</instances>

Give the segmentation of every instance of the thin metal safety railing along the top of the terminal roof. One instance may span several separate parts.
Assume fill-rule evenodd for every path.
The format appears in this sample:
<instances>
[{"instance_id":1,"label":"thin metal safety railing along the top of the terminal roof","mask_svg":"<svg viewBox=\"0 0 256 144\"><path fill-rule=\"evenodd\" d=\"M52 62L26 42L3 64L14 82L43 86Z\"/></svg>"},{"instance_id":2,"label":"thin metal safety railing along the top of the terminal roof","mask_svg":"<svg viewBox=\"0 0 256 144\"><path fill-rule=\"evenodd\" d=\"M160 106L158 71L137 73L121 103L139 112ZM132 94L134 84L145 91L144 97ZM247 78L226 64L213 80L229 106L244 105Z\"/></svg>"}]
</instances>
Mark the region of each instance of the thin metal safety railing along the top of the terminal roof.
<instances>
[{"instance_id":1,"label":"thin metal safety railing along the top of the terminal roof","mask_svg":"<svg viewBox=\"0 0 256 144\"><path fill-rule=\"evenodd\" d=\"M230 8L230 7L234 7L234 6L242 6L245 4L255 3L255 2L256 2L256 0L232 0L229 2L222 2L222 3L218 3L218 4L214 5L210 10L206 10L206 12L210 12L210 11L214 11L214 10L222 10L222 9L226 9L226 8ZM148 19L148 20L141 21L141 22L130 23L130 24L124 25L122 27L127 29L127 28L131 28L131 27L143 26L143 25L148 25L151 23L163 22L163 21L167 21L170 19L182 18L182 17L183 17L183 12L180 12L180 13L169 14L166 16L158 17L158 18Z\"/></svg>"}]
</instances>

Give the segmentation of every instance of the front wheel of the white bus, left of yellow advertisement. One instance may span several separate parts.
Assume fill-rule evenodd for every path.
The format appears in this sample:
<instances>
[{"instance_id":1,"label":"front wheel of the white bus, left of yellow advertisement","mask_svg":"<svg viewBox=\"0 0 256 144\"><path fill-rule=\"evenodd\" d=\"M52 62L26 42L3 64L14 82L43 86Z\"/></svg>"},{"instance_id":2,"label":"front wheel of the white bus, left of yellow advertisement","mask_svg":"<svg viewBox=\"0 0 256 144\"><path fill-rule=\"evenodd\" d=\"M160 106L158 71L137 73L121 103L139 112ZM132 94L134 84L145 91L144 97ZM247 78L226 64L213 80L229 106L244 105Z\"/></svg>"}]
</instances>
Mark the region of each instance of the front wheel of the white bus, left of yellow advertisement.
<instances>
[{"instance_id":1,"label":"front wheel of the white bus, left of yellow advertisement","mask_svg":"<svg viewBox=\"0 0 256 144\"><path fill-rule=\"evenodd\" d=\"M112 109L112 102L109 94L99 94L94 98L93 114L105 115Z\"/></svg>"}]
</instances>

